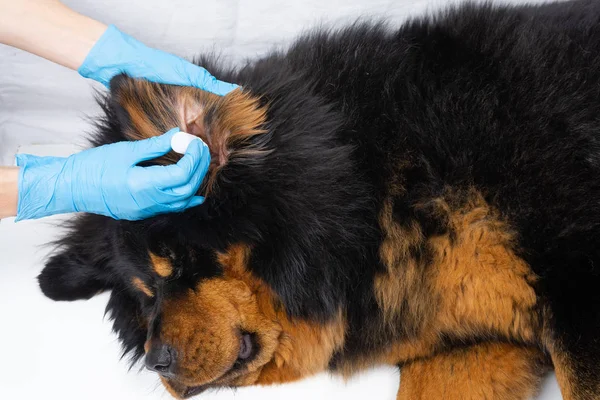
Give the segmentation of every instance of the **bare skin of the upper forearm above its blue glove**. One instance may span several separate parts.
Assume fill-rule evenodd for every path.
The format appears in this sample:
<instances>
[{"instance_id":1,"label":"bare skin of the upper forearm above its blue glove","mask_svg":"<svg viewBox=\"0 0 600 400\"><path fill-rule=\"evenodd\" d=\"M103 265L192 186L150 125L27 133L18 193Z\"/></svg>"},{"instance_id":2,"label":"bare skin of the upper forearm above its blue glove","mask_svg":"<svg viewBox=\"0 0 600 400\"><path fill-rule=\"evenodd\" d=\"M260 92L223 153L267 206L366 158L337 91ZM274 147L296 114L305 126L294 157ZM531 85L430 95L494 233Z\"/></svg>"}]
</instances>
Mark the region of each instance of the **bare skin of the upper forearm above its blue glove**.
<instances>
[{"instance_id":1,"label":"bare skin of the upper forearm above its blue glove","mask_svg":"<svg viewBox=\"0 0 600 400\"><path fill-rule=\"evenodd\" d=\"M0 0L0 43L71 69L79 68L106 28L58 0Z\"/></svg>"}]
</instances>

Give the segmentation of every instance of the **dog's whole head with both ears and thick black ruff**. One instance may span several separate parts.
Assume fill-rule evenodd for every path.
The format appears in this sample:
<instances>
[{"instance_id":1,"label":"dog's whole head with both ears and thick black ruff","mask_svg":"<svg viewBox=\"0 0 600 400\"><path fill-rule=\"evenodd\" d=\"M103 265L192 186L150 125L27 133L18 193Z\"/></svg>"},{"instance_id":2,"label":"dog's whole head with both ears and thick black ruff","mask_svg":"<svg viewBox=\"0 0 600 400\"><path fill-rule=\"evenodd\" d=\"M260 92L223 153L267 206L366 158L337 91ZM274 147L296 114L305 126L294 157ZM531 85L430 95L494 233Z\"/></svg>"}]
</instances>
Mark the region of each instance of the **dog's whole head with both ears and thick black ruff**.
<instances>
[{"instance_id":1,"label":"dog's whole head with both ears and thick black ruff","mask_svg":"<svg viewBox=\"0 0 600 400\"><path fill-rule=\"evenodd\" d=\"M40 275L43 292L111 291L125 351L177 397L327 369L343 346L350 268L360 269L341 260L361 251L343 223L364 231L353 213L365 190L348 148L331 139L331 110L298 94L275 101L269 118L267 101L240 89L218 97L125 76L102 104L96 145L175 126L201 137L212 156L207 201L147 221L82 216Z\"/></svg>"}]
</instances>

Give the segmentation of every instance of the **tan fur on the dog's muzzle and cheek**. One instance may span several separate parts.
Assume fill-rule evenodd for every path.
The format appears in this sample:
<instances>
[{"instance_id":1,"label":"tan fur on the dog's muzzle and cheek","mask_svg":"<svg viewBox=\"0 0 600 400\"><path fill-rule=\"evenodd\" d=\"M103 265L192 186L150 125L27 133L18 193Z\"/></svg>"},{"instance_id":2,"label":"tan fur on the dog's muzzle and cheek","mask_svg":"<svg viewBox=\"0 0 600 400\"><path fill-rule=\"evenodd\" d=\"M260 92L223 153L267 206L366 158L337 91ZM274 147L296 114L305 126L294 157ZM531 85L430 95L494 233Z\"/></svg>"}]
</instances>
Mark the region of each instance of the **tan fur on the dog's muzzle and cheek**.
<instances>
[{"instance_id":1,"label":"tan fur on the dog's muzzle and cheek","mask_svg":"<svg viewBox=\"0 0 600 400\"><path fill-rule=\"evenodd\" d=\"M323 371L343 345L342 314L326 324L289 320L276 296L247 268L251 248L231 246L217 254L222 277L163 305L160 339L178 350L177 382L165 381L171 393L180 385L271 384ZM244 374L229 374L239 352L239 329L257 335L260 351Z\"/></svg>"}]
</instances>

